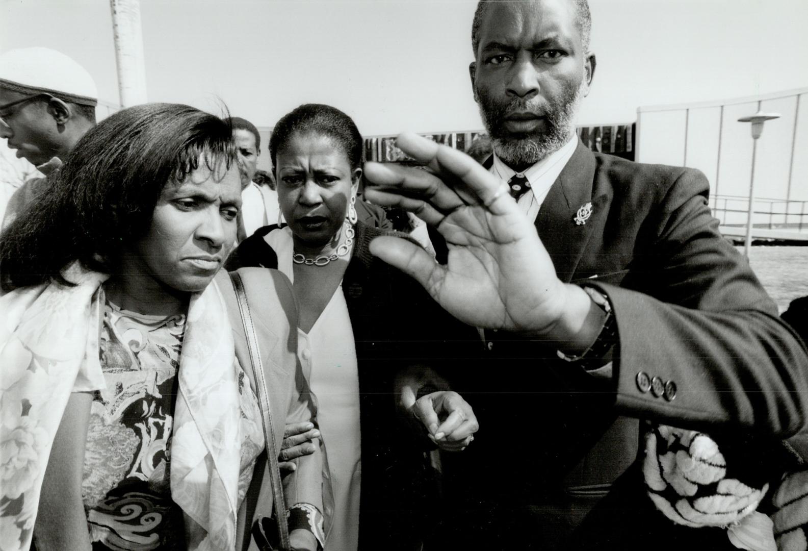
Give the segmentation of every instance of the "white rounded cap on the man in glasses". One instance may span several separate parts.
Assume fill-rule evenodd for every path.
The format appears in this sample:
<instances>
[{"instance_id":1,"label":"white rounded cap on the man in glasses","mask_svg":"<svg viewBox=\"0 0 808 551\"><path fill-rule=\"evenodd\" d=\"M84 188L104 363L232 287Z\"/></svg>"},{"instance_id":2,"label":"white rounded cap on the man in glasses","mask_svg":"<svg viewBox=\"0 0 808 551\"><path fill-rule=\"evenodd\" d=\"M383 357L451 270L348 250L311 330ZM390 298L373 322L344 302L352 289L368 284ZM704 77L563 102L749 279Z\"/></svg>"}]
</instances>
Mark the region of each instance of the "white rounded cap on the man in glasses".
<instances>
[{"instance_id":1,"label":"white rounded cap on the man in glasses","mask_svg":"<svg viewBox=\"0 0 808 551\"><path fill-rule=\"evenodd\" d=\"M74 104L98 104L98 90L90 73L64 53L49 48L2 53L0 87L23 94L47 92Z\"/></svg>"}]
</instances>

